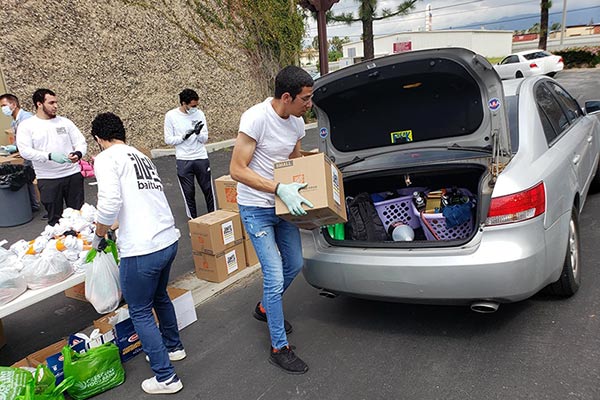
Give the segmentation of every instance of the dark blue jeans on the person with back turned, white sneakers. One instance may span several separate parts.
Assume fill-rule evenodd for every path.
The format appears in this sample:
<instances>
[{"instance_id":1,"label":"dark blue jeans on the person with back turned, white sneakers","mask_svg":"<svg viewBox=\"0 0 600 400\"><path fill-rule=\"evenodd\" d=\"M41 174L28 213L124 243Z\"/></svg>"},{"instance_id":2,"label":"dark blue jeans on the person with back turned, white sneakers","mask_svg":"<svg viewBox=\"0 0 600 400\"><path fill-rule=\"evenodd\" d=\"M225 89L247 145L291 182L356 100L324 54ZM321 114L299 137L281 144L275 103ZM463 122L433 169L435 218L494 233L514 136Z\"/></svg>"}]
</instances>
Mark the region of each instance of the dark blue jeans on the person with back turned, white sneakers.
<instances>
[{"instance_id":1,"label":"dark blue jeans on the person with back turned, white sneakers","mask_svg":"<svg viewBox=\"0 0 600 400\"><path fill-rule=\"evenodd\" d=\"M177 244L175 242L142 256L123 257L119 267L121 290L129 305L131 321L159 382L166 381L175 373L168 352L183 349L175 309L167 294ZM156 326L152 308L156 311L160 327Z\"/></svg>"}]
</instances>

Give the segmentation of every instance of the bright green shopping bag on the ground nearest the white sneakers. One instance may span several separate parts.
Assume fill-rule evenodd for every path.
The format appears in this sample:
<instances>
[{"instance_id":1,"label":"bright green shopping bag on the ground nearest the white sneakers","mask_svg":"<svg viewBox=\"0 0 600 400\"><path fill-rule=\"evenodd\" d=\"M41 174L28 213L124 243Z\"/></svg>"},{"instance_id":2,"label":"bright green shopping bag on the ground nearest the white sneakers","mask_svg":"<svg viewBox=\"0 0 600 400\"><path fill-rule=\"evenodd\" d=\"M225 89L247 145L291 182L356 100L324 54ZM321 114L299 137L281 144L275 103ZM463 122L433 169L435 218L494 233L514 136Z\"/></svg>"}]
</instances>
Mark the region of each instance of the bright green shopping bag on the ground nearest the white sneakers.
<instances>
[{"instance_id":1,"label":"bright green shopping bag on the ground nearest the white sneakers","mask_svg":"<svg viewBox=\"0 0 600 400\"><path fill-rule=\"evenodd\" d=\"M79 354L69 346L62 349L65 379L74 378L67 392L74 400L83 400L125 382L119 348L114 343L89 349Z\"/></svg>"}]
</instances>

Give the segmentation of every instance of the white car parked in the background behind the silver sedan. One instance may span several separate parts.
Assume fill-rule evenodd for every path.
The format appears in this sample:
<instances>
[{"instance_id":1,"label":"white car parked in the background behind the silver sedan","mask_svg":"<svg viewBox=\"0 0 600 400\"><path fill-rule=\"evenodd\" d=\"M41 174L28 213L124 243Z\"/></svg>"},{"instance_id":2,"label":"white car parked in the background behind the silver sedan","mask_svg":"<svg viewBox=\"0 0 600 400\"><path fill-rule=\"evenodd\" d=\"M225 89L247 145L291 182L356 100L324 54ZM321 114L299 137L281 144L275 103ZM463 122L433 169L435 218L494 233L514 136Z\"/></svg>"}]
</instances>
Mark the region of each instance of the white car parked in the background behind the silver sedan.
<instances>
[{"instance_id":1,"label":"white car parked in the background behind the silver sedan","mask_svg":"<svg viewBox=\"0 0 600 400\"><path fill-rule=\"evenodd\" d=\"M554 76L565 67L562 57L545 50L526 50L506 56L494 69L502 79Z\"/></svg>"}]
</instances>

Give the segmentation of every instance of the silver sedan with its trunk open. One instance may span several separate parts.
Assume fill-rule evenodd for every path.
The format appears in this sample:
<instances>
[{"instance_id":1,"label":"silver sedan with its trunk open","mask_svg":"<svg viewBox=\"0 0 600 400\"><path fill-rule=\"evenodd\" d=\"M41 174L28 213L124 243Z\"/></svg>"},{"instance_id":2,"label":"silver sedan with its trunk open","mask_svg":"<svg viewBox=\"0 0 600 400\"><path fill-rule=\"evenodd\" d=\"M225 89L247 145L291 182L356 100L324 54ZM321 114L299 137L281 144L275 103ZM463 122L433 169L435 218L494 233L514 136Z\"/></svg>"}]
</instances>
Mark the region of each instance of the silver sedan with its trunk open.
<instances>
[{"instance_id":1,"label":"silver sedan with its trunk open","mask_svg":"<svg viewBox=\"0 0 600 400\"><path fill-rule=\"evenodd\" d=\"M582 108L546 76L501 82L481 55L447 48L327 74L313 104L345 196L370 195L379 214L361 203L343 239L302 231L304 276L322 294L491 312L545 287L577 291L579 214L600 186L600 102ZM458 207L433 196L453 187ZM415 192L427 193L422 211ZM466 222L450 221L465 204ZM379 239L379 219L384 234L400 222L414 237Z\"/></svg>"}]
</instances>

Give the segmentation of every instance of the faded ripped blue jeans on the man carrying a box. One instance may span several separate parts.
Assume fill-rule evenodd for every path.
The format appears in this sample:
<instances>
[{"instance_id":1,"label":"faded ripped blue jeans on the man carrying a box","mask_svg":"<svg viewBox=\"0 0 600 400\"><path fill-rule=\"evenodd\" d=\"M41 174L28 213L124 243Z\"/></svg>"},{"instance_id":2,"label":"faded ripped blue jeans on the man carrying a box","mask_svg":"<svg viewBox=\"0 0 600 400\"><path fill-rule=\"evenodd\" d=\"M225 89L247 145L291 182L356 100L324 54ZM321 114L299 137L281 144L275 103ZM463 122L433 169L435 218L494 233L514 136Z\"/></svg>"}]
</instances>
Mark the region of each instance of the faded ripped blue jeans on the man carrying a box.
<instances>
[{"instance_id":1,"label":"faded ripped blue jeans on the man carrying a box","mask_svg":"<svg viewBox=\"0 0 600 400\"><path fill-rule=\"evenodd\" d=\"M298 228L275 215L275 208L239 206L240 216L263 272L262 305L267 312L271 346L287 346L282 296L302 269Z\"/></svg>"}]
</instances>

